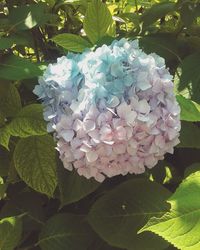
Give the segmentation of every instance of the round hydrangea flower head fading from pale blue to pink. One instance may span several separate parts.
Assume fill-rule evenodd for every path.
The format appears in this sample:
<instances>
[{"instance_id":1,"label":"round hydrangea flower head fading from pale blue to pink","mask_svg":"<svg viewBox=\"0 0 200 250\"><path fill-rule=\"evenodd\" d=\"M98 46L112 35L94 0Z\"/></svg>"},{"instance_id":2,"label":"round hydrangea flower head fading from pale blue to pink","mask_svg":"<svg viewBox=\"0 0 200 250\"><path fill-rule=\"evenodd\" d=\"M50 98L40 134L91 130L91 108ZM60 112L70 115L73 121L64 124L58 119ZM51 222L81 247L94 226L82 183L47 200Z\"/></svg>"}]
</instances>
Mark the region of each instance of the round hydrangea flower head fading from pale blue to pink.
<instances>
[{"instance_id":1,"label":"round hydrangea flower head fading from pale blue to pink","mask_svg":"<svg viewBox=\"0 0 200 250\"><path fill-rule=\"evenodd\" d=\"M34 93L64 167L86 178L143 173L179 143L172 77L136 40L59 58Z\"/></svg>"}]
</instances>

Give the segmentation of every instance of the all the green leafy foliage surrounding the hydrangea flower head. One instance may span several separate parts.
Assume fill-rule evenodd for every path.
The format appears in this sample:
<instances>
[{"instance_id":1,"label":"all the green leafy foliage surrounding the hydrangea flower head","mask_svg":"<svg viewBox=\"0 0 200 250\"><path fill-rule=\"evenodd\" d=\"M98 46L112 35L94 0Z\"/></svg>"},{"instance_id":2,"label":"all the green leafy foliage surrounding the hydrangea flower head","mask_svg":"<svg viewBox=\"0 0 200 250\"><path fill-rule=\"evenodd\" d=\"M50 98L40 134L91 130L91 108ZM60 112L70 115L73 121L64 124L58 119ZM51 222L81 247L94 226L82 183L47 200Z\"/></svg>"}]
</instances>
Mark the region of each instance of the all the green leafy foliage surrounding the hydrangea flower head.
<instances>
[{"instance_id":1,"label":"all the green leafy foliage surrounding the hydrangea flower head","mask_svg":"<svg viewBox=\"0 0 200 250\"><path fill-rule=\"evenodd\" d=\"M0 249L200 248L199 13L198 0L0 1ZM57 57L122 37L165 58L181 142L99 184L63 168L32 90Z\"/></svg>"}]
</instances>

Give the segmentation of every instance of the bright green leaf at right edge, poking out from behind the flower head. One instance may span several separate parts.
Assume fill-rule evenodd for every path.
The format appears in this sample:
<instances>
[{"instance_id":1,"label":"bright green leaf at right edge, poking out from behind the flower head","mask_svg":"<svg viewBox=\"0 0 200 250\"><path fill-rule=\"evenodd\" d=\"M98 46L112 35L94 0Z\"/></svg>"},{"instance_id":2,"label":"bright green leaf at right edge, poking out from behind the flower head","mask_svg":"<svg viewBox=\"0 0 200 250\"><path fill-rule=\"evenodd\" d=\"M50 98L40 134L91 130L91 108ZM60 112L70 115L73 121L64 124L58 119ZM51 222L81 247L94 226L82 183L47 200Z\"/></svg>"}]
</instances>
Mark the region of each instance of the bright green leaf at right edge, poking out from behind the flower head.
<instances>
[{"instance_id":1,"label":"bright green leaf at right edge, poking out from behind the flower head","mask_svg":"<svg viewBox=\"0 0 200 250\"><path fill-rule=\"evenodd\" d=\"M192 100L186 99L182 95L177 95L176 99L181 107L181 120L197 122L200 121L200 105Z\"/></svg>"}]
</instances>

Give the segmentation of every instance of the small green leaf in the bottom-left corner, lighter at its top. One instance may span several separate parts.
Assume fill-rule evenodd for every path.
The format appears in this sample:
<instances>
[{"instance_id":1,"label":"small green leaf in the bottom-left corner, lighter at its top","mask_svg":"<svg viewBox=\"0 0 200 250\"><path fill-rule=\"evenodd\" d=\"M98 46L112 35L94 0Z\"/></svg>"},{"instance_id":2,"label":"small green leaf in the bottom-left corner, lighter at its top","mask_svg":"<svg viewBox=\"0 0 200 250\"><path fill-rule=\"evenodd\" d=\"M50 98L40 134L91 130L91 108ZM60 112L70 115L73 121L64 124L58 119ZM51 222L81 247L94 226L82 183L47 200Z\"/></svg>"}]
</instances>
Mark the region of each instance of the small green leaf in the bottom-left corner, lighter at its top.
<instances>
[{"instance_id":1,"label":"small green leaf in the bottom-left corner, lighter at its top","mask_svg":"<svg viewBox=\"0 0 200 250\"><path fill-rule=\"evenodd\" d=\"M8 217L0 220L0 249L13 250L22 234L22 222L19 217Z\"/></svg>"}]
</instances>

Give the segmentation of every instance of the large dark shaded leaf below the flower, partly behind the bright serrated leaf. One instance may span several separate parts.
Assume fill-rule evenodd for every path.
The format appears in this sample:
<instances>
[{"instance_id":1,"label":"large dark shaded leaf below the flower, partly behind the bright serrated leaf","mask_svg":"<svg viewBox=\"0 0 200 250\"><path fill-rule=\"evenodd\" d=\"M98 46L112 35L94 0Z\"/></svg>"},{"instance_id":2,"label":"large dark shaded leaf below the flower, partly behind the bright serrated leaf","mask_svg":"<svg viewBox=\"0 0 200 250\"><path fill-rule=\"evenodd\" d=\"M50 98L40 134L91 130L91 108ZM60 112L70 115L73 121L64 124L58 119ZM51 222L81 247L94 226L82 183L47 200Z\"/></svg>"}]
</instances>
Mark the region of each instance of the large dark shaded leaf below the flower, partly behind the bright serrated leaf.
<instances>
[{"instance_id":1,"label":"large dark shaded leaf below the flower, partly behind the bright serrated leaf","mask_svg":"<svg viewBox=\"0 0 200 250\"><path fill-rule=\"evenodd\" d=\"M167 210L170 193L145 179L132 179L99 198L89 213L89 223L110 245L128 250L161 250L166 243L153 234L137 235L153 215Z\"/></svg>"}]
</instances>

